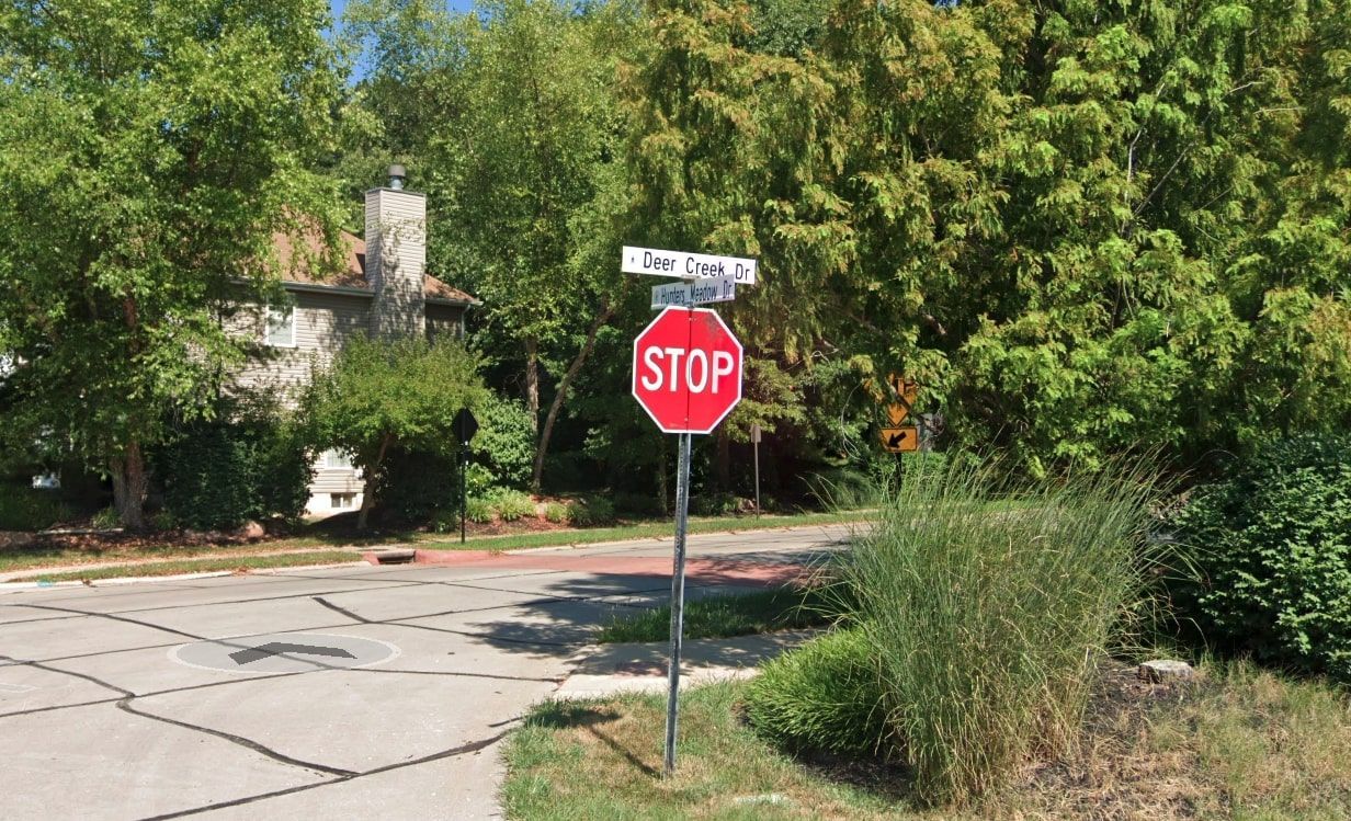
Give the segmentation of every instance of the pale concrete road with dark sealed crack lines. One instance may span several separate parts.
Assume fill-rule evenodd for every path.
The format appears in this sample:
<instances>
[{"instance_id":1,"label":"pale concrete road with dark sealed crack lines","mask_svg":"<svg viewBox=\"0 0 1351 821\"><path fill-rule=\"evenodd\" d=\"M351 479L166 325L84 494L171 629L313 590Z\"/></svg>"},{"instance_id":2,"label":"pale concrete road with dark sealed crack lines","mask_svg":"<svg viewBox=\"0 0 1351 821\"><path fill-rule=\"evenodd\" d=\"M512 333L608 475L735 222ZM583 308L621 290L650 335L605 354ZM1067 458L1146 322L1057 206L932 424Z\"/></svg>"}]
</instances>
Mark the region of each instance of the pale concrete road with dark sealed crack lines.
<instances>
[{"instance_id":1,"label":"pale concrete road with dark sealed crack lines","mask_svg":"<svg viewBox=\"0 0 1351 821\"><path fill-rule=\"evenodd\" d=\"M843 535L694 536L690 594ZM497 817L501 739L666 598L670 550L0 594L0 814Z\"/></svg>"}]
</instances>

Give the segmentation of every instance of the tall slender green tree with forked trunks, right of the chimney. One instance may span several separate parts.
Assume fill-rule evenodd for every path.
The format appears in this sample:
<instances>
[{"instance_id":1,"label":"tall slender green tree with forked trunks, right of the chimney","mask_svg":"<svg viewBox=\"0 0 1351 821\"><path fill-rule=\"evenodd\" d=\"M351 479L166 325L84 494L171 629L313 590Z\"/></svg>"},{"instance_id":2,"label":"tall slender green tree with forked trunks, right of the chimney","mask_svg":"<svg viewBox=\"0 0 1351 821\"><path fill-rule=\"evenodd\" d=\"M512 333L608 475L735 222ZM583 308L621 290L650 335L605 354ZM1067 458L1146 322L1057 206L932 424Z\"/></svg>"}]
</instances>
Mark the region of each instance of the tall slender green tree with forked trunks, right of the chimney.
<instances>
[{"instance_id":1,"label":"tall slender green tree with forked trunks, right of the chimney","mask_svg":"<svg viewBox=\"0 0 1351 821\"><path fill-rule=\"evenodd\" d=\"M482 7L466 42L462 130L438 135L434 174L444 259L485 302L485 332L516 340L538 444L538 490L567 392L627 294L616 213L624 205L615 57L630 14L554 1ZM540 421L542 363L557 382Z\"/></svg>"}]
</instances>

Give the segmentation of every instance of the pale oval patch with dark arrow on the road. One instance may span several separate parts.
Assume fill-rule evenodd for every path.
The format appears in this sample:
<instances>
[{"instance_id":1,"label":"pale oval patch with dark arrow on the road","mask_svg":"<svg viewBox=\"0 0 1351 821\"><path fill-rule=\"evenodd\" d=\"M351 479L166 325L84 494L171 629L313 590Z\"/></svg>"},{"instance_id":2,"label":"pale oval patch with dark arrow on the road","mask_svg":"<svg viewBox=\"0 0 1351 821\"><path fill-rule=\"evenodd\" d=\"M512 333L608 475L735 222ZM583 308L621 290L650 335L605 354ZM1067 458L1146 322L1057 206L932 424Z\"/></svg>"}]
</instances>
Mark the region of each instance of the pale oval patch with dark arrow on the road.
<instances>
[{"instance_id":1,"label":"pale oval patch with dark arrow on the road","mask_svg":"<svg viewBox=\"0 0 1351 821\"><path fill-rule=\"evenodd\" d=\"M388 641L335 633L267 633L182 644L169 658L226 672L307 672L369 667L399 655Z\"/></svg>"}]
</instances>

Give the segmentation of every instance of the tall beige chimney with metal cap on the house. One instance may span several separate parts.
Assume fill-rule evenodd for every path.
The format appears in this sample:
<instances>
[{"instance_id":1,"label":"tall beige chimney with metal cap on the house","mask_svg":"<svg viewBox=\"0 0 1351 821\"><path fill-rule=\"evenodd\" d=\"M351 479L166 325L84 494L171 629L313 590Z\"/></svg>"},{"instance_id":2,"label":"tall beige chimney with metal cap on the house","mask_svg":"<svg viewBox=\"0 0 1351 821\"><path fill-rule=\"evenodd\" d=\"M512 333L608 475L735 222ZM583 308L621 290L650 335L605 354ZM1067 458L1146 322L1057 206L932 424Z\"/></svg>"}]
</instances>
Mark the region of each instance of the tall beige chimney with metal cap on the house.
<instances>
[{"instance_id":1,"label":"tall beige chimney with metal cap on the house","mask_svg":"<svg viewBox=\"0 0 1351 821\"><path fill-rule=\"evenodd\" d=\"M376 290L374 338L426 332L427 197L404 190L404 166L389 166L389 185L366 192L366 281Z\"/></svg>"}]
</instances>

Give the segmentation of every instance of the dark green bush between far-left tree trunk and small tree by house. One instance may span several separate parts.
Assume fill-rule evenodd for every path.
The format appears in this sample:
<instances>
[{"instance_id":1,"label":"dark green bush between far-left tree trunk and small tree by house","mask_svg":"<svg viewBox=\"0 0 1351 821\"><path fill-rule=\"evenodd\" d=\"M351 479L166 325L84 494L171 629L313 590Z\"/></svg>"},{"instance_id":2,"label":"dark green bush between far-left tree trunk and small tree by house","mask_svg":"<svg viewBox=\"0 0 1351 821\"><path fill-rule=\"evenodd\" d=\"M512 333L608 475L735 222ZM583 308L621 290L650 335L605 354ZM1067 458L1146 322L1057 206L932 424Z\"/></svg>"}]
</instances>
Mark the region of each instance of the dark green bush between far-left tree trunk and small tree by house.
<instances>
[{"instance_id":1,"label":"dark green bush between far-left tree trunk and small tree by house","mask_svg":"<svg viewBox=\"0 0 1351 821\"><path fill-rule=\"evenodd\" d=\"M309 501L311 470L293 425L259 404L222 408L155 454L165 506L178 523L201 529L299 517Z\"/></svg>"}]
</instances>

